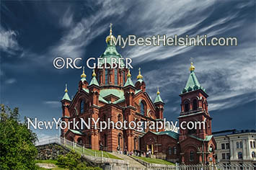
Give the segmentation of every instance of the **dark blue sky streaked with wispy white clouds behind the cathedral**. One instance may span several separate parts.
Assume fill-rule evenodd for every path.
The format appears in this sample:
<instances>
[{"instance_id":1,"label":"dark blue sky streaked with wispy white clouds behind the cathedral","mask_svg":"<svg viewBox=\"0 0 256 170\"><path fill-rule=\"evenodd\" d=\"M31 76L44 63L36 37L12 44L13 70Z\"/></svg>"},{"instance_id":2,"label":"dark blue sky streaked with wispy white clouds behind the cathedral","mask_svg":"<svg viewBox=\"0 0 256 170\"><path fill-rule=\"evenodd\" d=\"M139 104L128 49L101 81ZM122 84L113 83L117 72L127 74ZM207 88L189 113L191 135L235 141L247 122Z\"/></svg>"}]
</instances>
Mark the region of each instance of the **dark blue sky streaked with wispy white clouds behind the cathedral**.
<instances>
[{"instance_id":1,"label":"dark blue sky streaked with wispy white clouds behind the cathedral","mask_svg":"<svg viewBox=\"0 0 256 170\"><path fill-rule=\"evenodd\" d=\"M255 1L1 1L1 103L24 116L51 120L61 116L65 84L76 93L81 70L53 68L57 56L100 56L109 24L113 34L237 37L238 45L118 47L133 58L133 81L141 67L152 99L159 86L164 117L177 120L180 91L189 59L209 97L213 131L255 129ZM86 69L87 79L92 71ZM40 136L57 130L35 130Z\"/></svg>"}]
</instances>

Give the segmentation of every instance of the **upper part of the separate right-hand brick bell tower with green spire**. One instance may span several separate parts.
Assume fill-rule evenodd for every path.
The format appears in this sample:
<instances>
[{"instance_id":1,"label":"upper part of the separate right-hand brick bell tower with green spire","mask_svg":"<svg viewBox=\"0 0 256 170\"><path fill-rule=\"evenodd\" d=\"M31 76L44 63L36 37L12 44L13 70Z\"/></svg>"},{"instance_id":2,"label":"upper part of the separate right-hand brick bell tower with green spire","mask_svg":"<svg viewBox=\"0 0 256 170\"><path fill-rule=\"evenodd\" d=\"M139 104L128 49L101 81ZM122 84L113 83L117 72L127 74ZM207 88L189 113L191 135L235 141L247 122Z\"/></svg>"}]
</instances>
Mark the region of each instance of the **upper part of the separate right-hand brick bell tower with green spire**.
<instances>
[{"instance_id":1,"label":"upper part of the separate right-hand brick bell tower with green spire","mask_svg":"<svg viewBox=\"0 0 256 170\"><path fill-rule=\"evenodd\" d=\"M184 140L188 136L204 140L207 135L211 135L212 118L208 113L208 94L206 94L206 89L200 85L195 76L193 62L191 62L190 66L190 76L180 97L181 112L180 117L178 117L180 122L180 140Z\"/></svg>"}]
</instances>

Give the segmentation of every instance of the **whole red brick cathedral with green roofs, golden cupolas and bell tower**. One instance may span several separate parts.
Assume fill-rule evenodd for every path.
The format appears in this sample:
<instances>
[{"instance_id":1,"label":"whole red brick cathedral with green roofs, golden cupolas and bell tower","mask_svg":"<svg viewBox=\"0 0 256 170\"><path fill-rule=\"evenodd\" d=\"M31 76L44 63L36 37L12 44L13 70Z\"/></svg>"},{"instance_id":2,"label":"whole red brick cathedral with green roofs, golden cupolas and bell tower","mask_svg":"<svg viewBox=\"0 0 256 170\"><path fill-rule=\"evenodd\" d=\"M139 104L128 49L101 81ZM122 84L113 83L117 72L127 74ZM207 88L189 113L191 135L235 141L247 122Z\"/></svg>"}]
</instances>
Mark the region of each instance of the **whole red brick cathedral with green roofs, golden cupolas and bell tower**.
<instances>
[{"instance_id":1,"label":"whole red brick cathedral with green roofs, golden cupolas and bell tower","mask_svg":"<svg viewBox=\"0 0 256 170\"><path fill-rule=\"evenodd\" d=\"M100 55L106 58L103 65L110 66L111 58L122 58L114 43L115 37L106 37L107 48ZM123 63L118 63L123 65ZM166 159L180 164L208 164L215 162L214 151L216 142L211 134L211 120L208 113L208 103L205 89L200 86L195 76L193 63L190 66L190 75L185 88L182 90L181 112L179 122L206 121L206 128L201 130L182 130L175 133L164 128L156 132L146 128L143 131L110 129L102 130L92 128L62 130L61 136L68 140L80 143L94 150L104 148L107 151L128 151L133 153L146 153L151 151L151 156ZM154 102L146 92L141 71L139 70L135 85L131 80L131 73L127 68L102 68L95 69L92 79L87 81L86 74L81 74L79 88L73 99L69 98L65 90L61 100L62 120L71 122L74 118L79 121L83 118L100 118L100 121L163 121L164 102L157 90Z\"/></svg>"}]
</instances>

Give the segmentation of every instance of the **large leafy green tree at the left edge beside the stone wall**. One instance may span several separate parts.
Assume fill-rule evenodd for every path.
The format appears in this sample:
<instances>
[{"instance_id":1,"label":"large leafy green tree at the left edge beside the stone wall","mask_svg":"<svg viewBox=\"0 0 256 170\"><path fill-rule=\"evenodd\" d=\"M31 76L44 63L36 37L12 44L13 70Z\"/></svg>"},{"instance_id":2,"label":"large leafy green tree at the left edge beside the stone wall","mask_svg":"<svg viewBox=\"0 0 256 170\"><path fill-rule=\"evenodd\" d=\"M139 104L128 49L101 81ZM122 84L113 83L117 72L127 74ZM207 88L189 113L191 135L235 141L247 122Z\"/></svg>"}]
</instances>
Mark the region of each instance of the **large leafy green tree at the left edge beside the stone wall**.
<instances>
[{"instance_id":1,"label":"large leafy green tree at the left edge beside the stone wall","mask_svg":"<svg viewBox=\"0 0 256 170\"><path fill-rule=\"evenodd\" d=\"M19 109L1 104L0 169L35 170L37 136L27 129L27 122L19 121Z\"/></svg>"}]
</instances>

